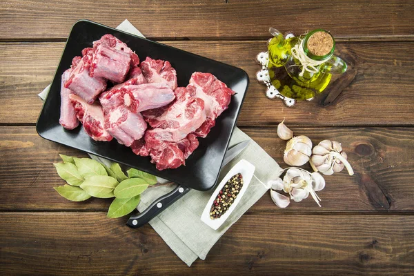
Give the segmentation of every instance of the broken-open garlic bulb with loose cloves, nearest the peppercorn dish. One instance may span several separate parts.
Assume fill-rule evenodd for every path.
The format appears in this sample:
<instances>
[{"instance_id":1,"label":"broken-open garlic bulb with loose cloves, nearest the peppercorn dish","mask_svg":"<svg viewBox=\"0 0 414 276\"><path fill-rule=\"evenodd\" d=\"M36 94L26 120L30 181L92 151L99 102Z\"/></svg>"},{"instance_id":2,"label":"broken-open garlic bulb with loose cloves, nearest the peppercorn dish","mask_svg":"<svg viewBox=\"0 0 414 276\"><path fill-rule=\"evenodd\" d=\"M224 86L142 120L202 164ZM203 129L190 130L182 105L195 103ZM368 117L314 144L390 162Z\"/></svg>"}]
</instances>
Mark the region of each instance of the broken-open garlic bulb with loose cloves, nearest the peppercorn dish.
<instances>
[{"instance_id":1,"label":"broken-open garlic bulb with loose cloves, nearest the peppercorn dish","mask_svg":"<svg viewBox=\"0 0 414 276\"><path fill-rule=\"evenodd\" d=\"M319 197L315 192L325 188L325 179L317 172L309 173L302 168L289 168L283 177L283 180L277 178L268 181L268 186L271 186L270 197L279 208L285 208L290 204L290 199L299 202L306 199L309 195L313 197L319 207ZM283 190L284 193L290 195L282 195L275 190Z\"/></svg>"}]
</instances>

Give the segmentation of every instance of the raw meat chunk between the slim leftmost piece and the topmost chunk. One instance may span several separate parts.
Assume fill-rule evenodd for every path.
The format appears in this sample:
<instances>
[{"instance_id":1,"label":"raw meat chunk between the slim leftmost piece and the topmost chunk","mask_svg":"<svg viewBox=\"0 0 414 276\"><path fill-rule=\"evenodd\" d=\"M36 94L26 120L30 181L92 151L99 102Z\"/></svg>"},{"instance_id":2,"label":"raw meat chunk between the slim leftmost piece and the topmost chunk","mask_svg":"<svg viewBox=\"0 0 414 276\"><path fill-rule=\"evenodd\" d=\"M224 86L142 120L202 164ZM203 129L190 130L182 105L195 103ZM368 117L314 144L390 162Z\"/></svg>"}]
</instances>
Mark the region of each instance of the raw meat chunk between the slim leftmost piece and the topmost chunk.
<instances>
[{"instance_id":1,"label":"raw meat chunk between the slim leftmost piece and the topmost chunk","mask_svg":"<svg viewBox=\"0 0 414 276\"><path fill-rule=\"evenodd\" d=\"M80 60L77 57L72 60L72 65L75 64L76 66L74 66L64 84L65 88L72 90L87 103L93 103L106 88L106 79L90 77L89 75L90 62L92 61L91 52L88 51Z\"/></svg>"}]
</instances>

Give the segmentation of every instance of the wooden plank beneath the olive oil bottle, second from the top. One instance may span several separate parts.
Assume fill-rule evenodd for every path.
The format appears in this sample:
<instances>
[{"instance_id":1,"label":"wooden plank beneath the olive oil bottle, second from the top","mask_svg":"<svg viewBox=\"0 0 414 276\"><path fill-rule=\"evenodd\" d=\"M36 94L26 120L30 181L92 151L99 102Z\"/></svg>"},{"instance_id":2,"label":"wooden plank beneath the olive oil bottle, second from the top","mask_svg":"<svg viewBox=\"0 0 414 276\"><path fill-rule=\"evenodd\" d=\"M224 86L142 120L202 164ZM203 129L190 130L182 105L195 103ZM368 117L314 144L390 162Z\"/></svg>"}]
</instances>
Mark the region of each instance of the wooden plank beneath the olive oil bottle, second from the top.
<instances>
[{"instance_id":1,"label":"wooden plank beneath the olive oil bottle, second from the top","mask_svg":"<svg viewBox=\"0 0 414 276\"><path fill-rule=\"evenodd\" d=\"M268 126L286 118L302 126L408 125L414 121L413 43L339 43L337 52L357 70L351 85L329 106L302 101L286 108L267 99L255 81L254 59L265 41L168 41L170 46L243 68L250 87L240 126ZM37 93L50 83L63 43L0 43L0 123L34 123L41 109ZM19 53L19 55L16 55ZM237 53L237 54L235 54Z\"/></svg>"}]
</instances>

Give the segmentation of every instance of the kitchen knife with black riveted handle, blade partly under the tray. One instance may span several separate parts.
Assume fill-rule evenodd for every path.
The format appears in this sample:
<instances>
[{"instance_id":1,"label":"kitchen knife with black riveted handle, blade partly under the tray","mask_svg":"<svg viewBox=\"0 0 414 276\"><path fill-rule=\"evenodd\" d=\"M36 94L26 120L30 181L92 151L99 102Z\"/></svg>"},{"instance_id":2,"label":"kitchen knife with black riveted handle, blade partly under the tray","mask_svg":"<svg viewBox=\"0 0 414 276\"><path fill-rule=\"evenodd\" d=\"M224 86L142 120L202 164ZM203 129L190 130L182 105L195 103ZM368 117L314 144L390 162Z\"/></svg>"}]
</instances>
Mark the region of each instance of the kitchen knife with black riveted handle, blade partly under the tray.
<instances>
[{"instance_id":1,"label":"kitchen knife with black riveted handle, blade partly under the tray","mask_svg":"<svg viewBox=\"0 0 414 276\"><path fill-rule=\"evenodd\" d=\"M226 166L228 162L230 162L237 155L239 155L239 153L242 152L244 148L248 146L249 143L250 140L242 141L239 144L228 149L226 155L224 155L221 168ZM137 215L132 215L126 222L126 225L130 226L131 228L139 228L141 226L144 226L148 223L148 221L159 215L159 213L166 210L168 206L170 206L175 201L180 199L183 195L188 193L189 190L191 189L185 186L177 185L177 187L175 187L174 190L172 190L170 193L167 193L166 195L163 195L156 199L154 202L152 202L152 204L150 204L150 206L148 206L143 212Z\"/></svg>"}]
</instances>

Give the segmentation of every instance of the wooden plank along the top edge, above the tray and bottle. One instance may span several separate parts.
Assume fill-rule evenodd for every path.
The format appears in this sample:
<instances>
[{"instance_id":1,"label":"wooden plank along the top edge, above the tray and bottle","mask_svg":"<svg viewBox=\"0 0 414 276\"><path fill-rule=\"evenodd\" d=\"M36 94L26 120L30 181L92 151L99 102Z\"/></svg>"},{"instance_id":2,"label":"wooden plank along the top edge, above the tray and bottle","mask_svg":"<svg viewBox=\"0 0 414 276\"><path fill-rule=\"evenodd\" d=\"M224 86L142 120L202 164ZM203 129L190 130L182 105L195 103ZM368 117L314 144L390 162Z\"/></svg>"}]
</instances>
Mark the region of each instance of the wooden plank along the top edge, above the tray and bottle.
<instances>
[{"instance_id":1,"label":"wooden plank along the top edge, above the tray and bottle","mask_svg":"<svg viewBox=\"0 0 414 276\"><path fill-rule=\"evenodd\" d=\"M61 39L79 19L116 27L128 19L156 38L268 37L268 28L315 28L335 37L413 39L411 1L2 1L0 39Z\"/></svg>"}]
</instances>

